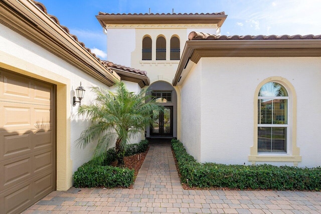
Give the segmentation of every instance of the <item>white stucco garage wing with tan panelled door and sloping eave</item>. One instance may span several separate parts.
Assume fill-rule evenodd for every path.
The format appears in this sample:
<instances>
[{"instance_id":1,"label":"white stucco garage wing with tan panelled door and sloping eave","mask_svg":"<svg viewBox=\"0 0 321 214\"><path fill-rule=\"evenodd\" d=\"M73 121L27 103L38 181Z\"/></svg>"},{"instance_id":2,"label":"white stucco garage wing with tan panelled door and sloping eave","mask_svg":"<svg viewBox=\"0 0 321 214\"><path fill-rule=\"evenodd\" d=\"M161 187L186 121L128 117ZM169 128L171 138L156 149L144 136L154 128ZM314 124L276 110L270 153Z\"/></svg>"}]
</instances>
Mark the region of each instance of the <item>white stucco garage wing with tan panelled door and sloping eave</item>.
<instances>
[{"instance_id":1,"label":"white stucco garage wing with tan panelled door and sloping eave","mask_svg":"<svg viewBox=\"0 0 321 214\"><path fill-rule=\"evenodd\" d=\"M91 86L122 80L131 91L146 73L112 68L32 1L0 2L0 207L20 213L53 190L67 190L93 147L75 140L89 125L77 116L75 89L92 101Z\"/></svg>"}]
</instances>

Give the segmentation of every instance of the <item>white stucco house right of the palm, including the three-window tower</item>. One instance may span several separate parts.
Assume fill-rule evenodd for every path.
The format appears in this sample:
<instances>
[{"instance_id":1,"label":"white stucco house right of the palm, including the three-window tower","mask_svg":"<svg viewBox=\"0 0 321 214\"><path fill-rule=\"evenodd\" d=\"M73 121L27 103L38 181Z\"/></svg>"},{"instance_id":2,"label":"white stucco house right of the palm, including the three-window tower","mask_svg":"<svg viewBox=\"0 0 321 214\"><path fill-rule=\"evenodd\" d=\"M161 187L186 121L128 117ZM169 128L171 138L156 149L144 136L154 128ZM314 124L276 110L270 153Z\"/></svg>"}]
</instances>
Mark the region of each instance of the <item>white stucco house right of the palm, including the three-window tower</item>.
<instances>
[{"instance_id":1,"label":"white stucco house right of the palm, including the three-window tower","mask_svg":"<svg viewBox=\"0 0 321 214\"><path fill-rule=\"evenodd\" d=\"M226 17L96 16L108 60L147 71L165 100L147 137L177 137L200 162L321 165L321 36L219 36Z\"/></svg>"}]
</instances>

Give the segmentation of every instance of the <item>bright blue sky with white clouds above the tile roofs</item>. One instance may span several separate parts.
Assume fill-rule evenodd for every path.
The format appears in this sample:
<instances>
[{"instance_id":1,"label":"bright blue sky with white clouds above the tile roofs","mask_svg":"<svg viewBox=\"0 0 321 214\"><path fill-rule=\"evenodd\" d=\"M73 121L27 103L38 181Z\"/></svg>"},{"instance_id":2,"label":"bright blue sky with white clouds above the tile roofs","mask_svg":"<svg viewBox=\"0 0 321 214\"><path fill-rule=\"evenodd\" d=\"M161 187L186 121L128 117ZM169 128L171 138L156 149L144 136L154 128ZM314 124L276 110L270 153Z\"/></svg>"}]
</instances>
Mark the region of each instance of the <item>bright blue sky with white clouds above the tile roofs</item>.
<instances>
[{"instance_id":1,"label":"bright blue sky with white clouds above the tile roofs","mask_svg":"<svg viewBox=\"0 0 321 214\"><path fill-rule=\"evenodd\" d=\"M321 0L38 0L61 25L106 59L107 42L96 19L105 13L217 13L228 15L221 35L320 35ZM206 33L206 32L203 32Z\"/></svg>"}]
</instances>

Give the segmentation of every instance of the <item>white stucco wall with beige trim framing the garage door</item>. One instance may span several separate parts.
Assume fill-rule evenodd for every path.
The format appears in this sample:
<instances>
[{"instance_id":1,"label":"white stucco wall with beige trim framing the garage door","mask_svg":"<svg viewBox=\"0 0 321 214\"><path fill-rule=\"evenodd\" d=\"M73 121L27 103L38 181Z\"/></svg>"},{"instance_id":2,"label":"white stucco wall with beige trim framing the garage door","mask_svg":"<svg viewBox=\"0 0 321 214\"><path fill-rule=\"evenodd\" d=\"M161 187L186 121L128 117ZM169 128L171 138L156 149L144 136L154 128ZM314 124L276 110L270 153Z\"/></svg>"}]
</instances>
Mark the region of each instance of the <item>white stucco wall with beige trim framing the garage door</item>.
<instances>
[{"instance_id":1,"label":"white stucco wall with beige trim framing the garage door","mask_svg":"<svg viewBox=\"0 0 321 214\"><path fill-rule=\"evenodd\" d=\"M0 59L2 68L57 85L57 189L68 189L73 172L92 157L95 147L82 149L74 143L90 124L77 115L79 103L72 105L75 89L81 82L86 89L81 103L90 104L94 99L91 86L108 87L1 24ZM136 83L126 84L138 89Z\"/></svg>"}]
</instances>

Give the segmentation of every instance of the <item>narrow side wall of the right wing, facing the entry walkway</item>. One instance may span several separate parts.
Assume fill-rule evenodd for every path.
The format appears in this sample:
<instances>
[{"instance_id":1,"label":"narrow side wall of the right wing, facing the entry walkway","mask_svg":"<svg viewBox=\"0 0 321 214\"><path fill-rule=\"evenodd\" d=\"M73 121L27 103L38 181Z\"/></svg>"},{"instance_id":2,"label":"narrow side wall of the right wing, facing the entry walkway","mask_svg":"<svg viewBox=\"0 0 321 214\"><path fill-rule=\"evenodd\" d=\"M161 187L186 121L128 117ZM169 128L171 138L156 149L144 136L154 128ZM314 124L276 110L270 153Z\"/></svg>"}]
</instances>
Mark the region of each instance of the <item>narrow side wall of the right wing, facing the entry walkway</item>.
<instances>
[{"instance_id":1,"label":"narrow side wall of the right wing, facing the entry walkway","mask_svg":"<svg viewBox=\"0 0 321 214\"><path fill-rule=\"evenodd\" d=\"M181 87L181 141L189 154L201 161L202 78L201 64L192 67ZM195 81L195 82L194 82ZM197 82L197 84L195 84Z\"/></svg>"}]
</instances>

